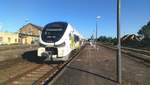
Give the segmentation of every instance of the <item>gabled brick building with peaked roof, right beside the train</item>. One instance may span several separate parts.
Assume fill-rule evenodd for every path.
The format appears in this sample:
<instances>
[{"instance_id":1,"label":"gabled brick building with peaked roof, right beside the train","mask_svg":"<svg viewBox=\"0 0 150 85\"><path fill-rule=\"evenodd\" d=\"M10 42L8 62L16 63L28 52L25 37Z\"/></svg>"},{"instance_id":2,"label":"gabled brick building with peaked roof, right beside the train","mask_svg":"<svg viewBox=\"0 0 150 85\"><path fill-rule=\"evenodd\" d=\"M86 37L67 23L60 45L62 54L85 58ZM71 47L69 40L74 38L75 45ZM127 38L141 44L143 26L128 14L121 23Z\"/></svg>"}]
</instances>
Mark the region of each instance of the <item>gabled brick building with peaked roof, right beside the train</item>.
<instances>
[{"instance_id":1,"label":"gabled brick building with peaked roof, right beside the train","mask_svg":"<svg viewBox=\"0 0 150 85\"><path fill-rule=\"evenodd\" d=\"M42 27L28 23L19 30L19 39L22 44L37 44Z\"/></svg>"}]
</instances>

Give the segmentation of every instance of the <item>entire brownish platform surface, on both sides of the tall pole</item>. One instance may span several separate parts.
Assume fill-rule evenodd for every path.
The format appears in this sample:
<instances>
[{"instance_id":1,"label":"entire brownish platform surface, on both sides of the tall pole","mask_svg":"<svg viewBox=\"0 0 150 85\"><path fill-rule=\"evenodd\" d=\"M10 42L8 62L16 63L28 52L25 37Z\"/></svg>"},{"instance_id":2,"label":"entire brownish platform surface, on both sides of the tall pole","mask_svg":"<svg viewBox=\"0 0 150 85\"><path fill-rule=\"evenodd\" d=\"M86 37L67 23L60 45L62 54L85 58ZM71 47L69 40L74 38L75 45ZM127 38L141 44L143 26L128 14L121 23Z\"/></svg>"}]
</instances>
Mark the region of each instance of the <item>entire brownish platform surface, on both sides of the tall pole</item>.
<instances>
[{"instance_id":1,"label":"entire brownish platform surface, on both sides of the tall pole","mask_svg":"<svg viewBox=\"0 0 150 85\"><path fill-rule=\"evenodd\" d=\"M90 45L65 67L52 85L118 85L116 51ZM122 85L150 85L150 64L122 54Z\"/></svg>"}]
</instances>

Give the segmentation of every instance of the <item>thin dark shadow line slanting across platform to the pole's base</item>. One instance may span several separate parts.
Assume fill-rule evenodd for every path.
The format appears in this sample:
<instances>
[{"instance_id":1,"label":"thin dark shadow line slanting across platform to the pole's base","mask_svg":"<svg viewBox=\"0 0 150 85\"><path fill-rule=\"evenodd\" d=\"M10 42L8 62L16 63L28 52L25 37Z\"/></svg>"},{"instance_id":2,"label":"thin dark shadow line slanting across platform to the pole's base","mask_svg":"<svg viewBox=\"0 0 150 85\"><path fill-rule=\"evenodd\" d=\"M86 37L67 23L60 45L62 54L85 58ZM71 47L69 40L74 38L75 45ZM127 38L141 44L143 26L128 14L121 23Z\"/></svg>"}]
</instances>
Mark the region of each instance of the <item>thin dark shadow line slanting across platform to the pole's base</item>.
<instances>
[{"instance_id":1,"label":"thin dark shadow line slanting across platform to the pole's base","mask_svg":"<svg viewBox=\"0 0 150 85\"><path fill-rule=\"evenodd\" d=\"M109 80L109 81L111 81L111 82L118 83L116 80L113 80L113 79L111 79L111 78L105 77L105 76L100 75L100 74L96 74L96 73L93 73L93 72L89 72L89 71L82 70L82 69L75 68L75 67L71 67L71 66L67 66L67 68L73 69L73 70L77 70L77 71L81 71L81 72L85 72L85 73L88 73L88 74L91 74L91 75L94 75L94 76L101 77L101 78L103 78L103 79Z\"/></svg>"}]
</instances>

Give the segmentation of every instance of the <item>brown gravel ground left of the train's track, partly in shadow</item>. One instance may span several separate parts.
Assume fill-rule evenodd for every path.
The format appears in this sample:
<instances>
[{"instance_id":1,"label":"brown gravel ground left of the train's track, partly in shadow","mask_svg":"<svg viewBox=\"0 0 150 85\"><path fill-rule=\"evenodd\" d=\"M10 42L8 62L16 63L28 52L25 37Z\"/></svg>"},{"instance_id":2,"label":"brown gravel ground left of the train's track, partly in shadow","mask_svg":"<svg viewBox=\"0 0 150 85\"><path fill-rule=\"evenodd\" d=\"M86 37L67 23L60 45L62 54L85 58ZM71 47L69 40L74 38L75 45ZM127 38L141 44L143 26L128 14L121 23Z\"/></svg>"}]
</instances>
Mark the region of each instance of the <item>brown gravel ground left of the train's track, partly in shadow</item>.
<instances>
[{"instance_id":1,"label":"brown gravel ground left of the train's track, partly in shadow","mask_svg":"<svg viewBox=\"0 0 150 85\"><path fill-rule=\"evenodd\" d=\"M30 57L30 54L36 55L35 49L37 47L0 51L0 83L40 64L38 60Z\"/></svg>"}]
</instances>

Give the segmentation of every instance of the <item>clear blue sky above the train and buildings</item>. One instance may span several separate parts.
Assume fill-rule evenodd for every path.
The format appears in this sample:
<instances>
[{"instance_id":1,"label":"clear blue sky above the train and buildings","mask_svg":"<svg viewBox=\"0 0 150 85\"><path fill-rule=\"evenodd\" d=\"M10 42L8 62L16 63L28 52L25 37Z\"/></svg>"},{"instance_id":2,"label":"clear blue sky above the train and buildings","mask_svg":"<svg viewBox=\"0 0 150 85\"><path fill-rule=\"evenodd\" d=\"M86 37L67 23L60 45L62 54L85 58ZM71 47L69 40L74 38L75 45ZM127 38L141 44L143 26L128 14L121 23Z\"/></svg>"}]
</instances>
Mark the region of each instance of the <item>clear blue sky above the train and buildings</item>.
<instances>
[{"instance_id":1,"label":"clear blue sky above the train and buildings","mask_svg":"<svg viewBox=\"0 0 150 85\"><path fill-rule=\"evenodd\" d=\"M16 32L27 23L44 27L54 21L71 23L86 38L116 37L117 0L0 0L0 31ZM136 34L150 21L150 0L121 0L121 36Z\"/></svg>"}]
</instances>

